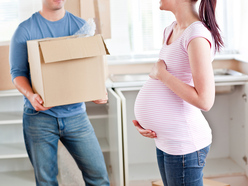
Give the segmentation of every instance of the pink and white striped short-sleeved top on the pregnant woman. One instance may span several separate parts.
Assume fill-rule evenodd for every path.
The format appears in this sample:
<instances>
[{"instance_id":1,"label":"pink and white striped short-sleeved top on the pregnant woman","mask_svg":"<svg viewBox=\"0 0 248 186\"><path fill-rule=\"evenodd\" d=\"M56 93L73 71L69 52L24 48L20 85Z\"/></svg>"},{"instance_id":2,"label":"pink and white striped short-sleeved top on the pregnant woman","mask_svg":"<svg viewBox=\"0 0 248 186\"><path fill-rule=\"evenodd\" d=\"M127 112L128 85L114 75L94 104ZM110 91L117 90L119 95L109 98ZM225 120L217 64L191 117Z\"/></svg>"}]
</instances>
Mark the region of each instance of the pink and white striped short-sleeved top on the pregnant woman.
<instances>
[{"instance_id":1,"label":"pink and white striped short-sleeved top on the pregnant woman","mask_svg":"<svg viewBox=\"0 0 248 186\"><path fill-rule=\"evenodd\" d=\"M181 81L194 86L187 47L197 37L207 39L214 57L214 41L209 30L197 21L185 29L170 45L167 40L176 22L165 29L165 42L159 58L167 70ZM189 104L159 80L149 79L137 95L135 117L142 127L157 134L157 148L171 154L183 155L200 150L212 142L211 129L201 110Z\"/></svg>"}]
</instances>

